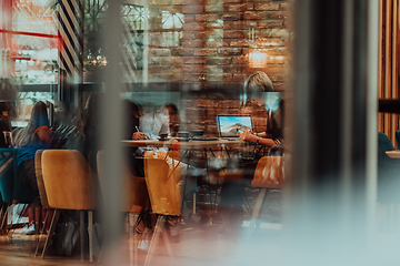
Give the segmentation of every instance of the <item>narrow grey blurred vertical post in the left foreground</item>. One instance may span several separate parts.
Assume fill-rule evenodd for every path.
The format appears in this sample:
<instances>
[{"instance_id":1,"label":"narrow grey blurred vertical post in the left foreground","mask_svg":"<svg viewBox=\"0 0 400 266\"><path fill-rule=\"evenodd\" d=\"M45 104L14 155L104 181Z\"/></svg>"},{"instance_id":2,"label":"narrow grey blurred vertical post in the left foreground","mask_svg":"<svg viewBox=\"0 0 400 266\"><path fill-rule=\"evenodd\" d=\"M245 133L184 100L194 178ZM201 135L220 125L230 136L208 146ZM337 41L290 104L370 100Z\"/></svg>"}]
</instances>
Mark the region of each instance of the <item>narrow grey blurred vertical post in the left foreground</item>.
<instances>
[{"instance_id":1,"label":"narrow grey blurred vertical post in the left foreground","mask_svg":"<svg viewBox=\"0 0 400 266\"><path fill-rule=\"evenodd\" d=\"M102 262L104 265L122 265L121 233L123 225L122 205L122 104L121 84L121 1L108 2L101 41L107 47L107 69L101 76L103 82L101 121L101 147L104 151L102 162L103 187L101 226L104 229Z\"/></svg>"}]
</instances>

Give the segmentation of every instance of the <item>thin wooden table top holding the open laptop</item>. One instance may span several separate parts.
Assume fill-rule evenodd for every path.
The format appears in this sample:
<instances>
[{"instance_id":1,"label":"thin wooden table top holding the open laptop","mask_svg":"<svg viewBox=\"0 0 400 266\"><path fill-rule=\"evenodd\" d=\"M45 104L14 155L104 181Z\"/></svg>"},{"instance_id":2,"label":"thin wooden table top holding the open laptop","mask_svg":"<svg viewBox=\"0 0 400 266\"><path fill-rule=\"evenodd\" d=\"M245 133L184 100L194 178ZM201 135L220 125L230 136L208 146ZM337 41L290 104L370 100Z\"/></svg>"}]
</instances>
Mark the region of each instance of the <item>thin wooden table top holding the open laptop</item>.
<instances>
[{"instance_id":1,"label":"thin wooden table top holding the open laptop","mask_svg":"<svg viewBox=\"0 0 400 266\"><path fill-rule=\"evenodd\" d=\"M241 140L228 141L228 140L216 140L216 141L189 141L189 142L179 142L177 140L169 141L159 141L159 140L141 140L132 141L124 140L122 141L124 146L152 146L152 147L168 147L168 149L211 149L211 147L239 147L246 144Z\"/></svg>"}]
</instances>

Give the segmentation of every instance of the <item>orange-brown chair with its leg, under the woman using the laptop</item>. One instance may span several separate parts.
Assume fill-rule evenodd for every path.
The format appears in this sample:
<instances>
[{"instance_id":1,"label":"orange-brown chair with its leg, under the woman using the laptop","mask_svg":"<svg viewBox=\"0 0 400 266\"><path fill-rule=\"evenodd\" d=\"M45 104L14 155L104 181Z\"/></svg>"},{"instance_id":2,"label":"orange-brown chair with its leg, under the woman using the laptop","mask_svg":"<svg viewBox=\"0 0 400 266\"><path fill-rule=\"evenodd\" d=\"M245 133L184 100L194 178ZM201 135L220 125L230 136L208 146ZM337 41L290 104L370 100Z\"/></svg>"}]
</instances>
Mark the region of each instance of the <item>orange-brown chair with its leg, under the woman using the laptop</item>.
<instances>
[{"instance_id":1,"label":"orange-brown chair with its leg, under the woman using the laptop","mask_svg":"<svg viewBox=\"0 0 400 266\"><path fill-rule=\"evenodd\" d=\"M256 205L251 215L250 228L252 229L259 216L262 202L269 190L283 187L283 156L263 156L257 163L252 187L260 187Z\"/></svg>"}]
</instances>

